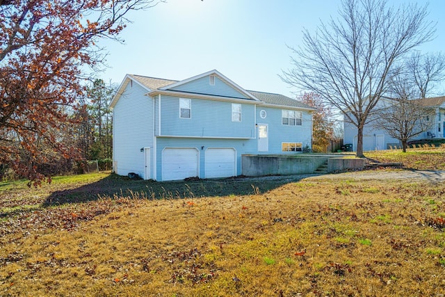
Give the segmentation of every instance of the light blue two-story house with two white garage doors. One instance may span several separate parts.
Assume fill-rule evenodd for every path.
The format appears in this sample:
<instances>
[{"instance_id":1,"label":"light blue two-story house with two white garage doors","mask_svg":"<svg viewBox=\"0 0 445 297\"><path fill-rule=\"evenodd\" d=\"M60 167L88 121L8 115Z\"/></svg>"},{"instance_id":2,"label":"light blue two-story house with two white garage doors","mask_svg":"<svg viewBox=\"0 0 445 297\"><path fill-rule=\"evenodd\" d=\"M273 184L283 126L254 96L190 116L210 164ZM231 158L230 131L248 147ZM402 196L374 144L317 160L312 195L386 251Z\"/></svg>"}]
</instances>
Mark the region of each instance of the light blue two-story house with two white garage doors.
<instances>
[{"instance_id":1,"label":"light blue two-story house with two white garage doors","mask_svg":"<svg viewBox=\"0 0 445 297\"><path fill-rule=\"evenodd\" d=\"M111 104L113 170L157 181L241 175L241 154L312 144L312 107L244 90L216 70L172 81L127 74Z\"/></svg>"}]
</instances>

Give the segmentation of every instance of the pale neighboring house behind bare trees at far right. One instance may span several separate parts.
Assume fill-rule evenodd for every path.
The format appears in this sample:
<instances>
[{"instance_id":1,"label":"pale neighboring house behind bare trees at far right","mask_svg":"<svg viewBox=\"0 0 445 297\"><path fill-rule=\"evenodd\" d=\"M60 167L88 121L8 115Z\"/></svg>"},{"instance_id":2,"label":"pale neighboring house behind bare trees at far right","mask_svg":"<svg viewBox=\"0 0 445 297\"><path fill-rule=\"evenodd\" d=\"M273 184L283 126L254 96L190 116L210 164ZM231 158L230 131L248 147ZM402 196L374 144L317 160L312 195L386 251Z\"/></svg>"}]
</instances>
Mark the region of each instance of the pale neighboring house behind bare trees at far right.
<instances>
[{"instance_id":1,"label":"pale neighboring house behind bare trees at far right","mask_svg":"<svg viewBox=\"0 0 445 297\"><path fill-rule=\"evenodd\" d=\"M382 109L380 113L376 113L369 117L369 121L366 123L363 129L363 150L388 150L391 147L401 147L401 142L392 137L386 127L383 129L384 122L380 121L380 125L375 125L378 117L385 118L383 112L395 113L394 116L398 116L401 111L394 111L391 108L394 99L380 99L376 109ZM444 97L432 97L425 99L412 100L414 106L419 108L418 113L413 113L411 116L417 116L413 119L415 124L412 129L412 134L415 134L410 141L418 141L432 138L445 138L445 96ZM382 107L383 106L383 107ZM400 116L407 116L400 114ZM399 125L403 125L401 121ZM388 123L388 126L391 123ZM353 145L353 151L357 150L357 127L351 123L345 122L343 130L343 142L351 143Z\"/></svg>"}]
</instances>

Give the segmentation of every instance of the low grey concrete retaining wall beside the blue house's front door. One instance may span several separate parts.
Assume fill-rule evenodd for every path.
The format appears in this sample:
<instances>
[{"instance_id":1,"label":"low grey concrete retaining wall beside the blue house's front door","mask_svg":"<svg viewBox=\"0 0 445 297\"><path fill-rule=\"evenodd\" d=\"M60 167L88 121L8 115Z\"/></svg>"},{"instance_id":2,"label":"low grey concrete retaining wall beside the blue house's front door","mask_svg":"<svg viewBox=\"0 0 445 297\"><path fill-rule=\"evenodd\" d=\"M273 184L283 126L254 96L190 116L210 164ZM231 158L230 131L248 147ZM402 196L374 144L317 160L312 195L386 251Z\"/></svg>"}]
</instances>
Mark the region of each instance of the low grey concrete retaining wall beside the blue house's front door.
<instances>
[{"instance_id":1,"label":"low grey concrete retaining wall beside the blue house's front door","mask_svg":"<svg viewBox=\"0 0 445 297\"><path fill-rule=\"evenodd\" d=\"M323 163L327 163L328 172L364 168L364 159L345 159L339 156L243 154L241 172L248 177L304 175L314 173Z\"/></svg>"}]
</instances>

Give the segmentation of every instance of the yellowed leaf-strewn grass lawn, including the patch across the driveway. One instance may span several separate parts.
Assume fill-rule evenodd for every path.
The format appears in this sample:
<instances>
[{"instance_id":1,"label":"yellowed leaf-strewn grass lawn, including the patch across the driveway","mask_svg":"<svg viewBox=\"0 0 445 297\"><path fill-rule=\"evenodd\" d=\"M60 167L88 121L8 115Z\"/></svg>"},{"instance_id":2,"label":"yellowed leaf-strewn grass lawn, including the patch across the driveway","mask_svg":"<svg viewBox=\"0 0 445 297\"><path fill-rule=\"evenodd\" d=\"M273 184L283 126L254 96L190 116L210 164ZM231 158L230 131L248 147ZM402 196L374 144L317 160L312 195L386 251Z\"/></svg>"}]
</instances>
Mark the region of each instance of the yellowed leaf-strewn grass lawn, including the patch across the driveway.
<instances>
[{"instance_id":1,"label":"yellowed leaf-strewn grass lawn, including the patch across the driveway","mask_svg":"<svg viewBox=\"0 0 445 297\"><path fill-rule=\"evenodd\" d=\"M416 169L444 163L443 150L414 152L397 158ZM443 184L353 172L293 182L4 182L0 296L437 296L444 193Z\"/></svg>"}]
</instances>

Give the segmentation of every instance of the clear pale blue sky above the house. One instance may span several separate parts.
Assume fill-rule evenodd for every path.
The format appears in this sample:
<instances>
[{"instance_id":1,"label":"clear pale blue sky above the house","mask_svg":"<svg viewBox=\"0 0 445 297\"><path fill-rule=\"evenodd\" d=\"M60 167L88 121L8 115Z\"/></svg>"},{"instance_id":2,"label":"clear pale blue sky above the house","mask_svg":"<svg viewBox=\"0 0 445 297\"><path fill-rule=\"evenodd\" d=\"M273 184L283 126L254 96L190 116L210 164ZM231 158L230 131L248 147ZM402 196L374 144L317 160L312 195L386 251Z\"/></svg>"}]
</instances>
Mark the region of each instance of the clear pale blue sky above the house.
<instances>
[{"instance_id":1,"label":"clear pale blue sky above the house","mask_svg":"<svg viewBox=\"0 0 445 297\"><path fill-rule=\"evenodd\" d=\"M320 20L337 17L340 2L168 0L129 14L133 23L121 35L124 45L102 41L110 68L99 76L113 83L121 83L125 74L182 80L216 69L246 90L294 97L291 91L297 90L278 77L291 67L286 45L298 47L303 28L314 32ZM442 51L445 1L431 0L429 10L437 38L422 51Z\"/></svg>"}]
</instances>

